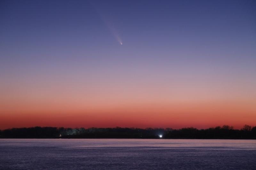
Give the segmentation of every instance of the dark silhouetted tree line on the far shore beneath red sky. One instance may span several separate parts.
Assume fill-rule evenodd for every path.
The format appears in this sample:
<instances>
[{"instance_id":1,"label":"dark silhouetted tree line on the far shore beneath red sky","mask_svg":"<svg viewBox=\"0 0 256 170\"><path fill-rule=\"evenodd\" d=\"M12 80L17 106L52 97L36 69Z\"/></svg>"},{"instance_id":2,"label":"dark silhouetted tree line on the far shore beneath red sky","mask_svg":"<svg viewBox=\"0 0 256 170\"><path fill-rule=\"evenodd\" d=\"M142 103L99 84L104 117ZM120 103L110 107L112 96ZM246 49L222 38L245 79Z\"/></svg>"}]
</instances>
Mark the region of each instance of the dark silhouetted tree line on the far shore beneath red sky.
<instances>
[{"instance_id":1,"label":"dark silhouetted tree line on the far shore beneath red sky","mask_svg":"<svg viewBox=\"0 0 256 170\"><path fill-rule=\"evenodd\" d=\"M256 126L242 129L224 125L208 129L196 128L57 128L30 127L0 130L0 138L144 138L156 139L256 139Z\"/></svg>"}]
</instances>

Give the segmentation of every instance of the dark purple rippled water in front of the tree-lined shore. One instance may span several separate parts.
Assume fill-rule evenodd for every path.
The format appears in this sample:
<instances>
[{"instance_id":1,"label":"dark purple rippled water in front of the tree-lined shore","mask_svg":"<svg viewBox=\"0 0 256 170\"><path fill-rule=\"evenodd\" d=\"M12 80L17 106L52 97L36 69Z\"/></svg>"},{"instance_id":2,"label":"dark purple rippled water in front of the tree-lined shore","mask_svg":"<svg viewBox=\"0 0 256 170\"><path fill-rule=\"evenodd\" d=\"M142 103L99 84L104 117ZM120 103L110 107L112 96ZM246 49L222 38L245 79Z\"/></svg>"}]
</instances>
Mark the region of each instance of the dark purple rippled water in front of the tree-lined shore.
<instances>
[{"instance_id":1,"label":"dark purple rippled water in front of the tree-lined shore","mask_svg":"<svg viewBox=\"0 0 256 170\"><path fill-rule=\"evenodd\" d=\"M0 169L256 169L256 140L0 139Z\"/></svg>"}]
</instances>

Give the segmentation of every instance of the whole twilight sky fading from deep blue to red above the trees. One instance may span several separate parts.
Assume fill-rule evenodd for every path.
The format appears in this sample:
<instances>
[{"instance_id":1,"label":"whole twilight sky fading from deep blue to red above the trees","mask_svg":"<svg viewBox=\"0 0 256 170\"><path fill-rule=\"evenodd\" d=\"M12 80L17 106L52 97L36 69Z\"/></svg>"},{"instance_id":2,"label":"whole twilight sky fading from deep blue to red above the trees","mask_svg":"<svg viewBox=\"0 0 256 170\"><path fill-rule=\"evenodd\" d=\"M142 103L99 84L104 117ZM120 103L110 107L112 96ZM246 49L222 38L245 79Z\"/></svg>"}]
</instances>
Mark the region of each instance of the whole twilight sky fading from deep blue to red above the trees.
<instances>
[{"instance_id":1,"label":"whole twilight sky fading from deep blue to red above the trees","mask_svg":"<svg viewBox=\"0 0 256 170\"><path fill-rule=\"evenodd\" d=\"M256 125L256 1L0 1L0 129L224 124Z\"/></svg>"}]
</instances>

